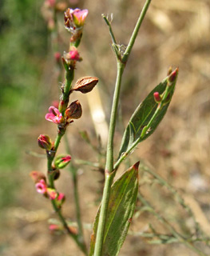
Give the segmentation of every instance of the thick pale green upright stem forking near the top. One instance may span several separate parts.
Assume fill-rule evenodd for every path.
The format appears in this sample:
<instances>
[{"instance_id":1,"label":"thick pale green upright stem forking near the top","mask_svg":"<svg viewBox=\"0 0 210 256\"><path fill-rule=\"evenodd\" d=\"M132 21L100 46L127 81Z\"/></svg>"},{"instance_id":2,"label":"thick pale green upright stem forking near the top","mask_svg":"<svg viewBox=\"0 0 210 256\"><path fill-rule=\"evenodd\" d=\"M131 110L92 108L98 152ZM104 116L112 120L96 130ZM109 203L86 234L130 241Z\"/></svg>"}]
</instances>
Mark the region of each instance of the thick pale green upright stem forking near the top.
<instances>
[{"instance_id":1,"label":"thick pale green upright stem forking near the top","mask_svg":"<svg viewBox=\"0 0 210 256\"><path fill-rule=\"evenodd\" d=\"M120 90L121 90L121 78L123 71L125 69L125 64L128 61L129 54L133 48L133 44L137 38L138 31L141 27L141 23L143 19L145 18L146 11L149 8L149 4L152 0L147 0L145 2L145 6L143 7L143 10L141 11L140 17L138 18L137 25L135 26L133 30L133 34L129 41L129 46L125 50L125 54L121 57L120 52L117 51L117 44L115 37L113 35L113 30L111 28L111 24L109 23L108 19L106 19L104 16L106 24L109 26L109 32L111 34L112 40L113 40L113 50L115 50L116 56L117 56L117 79L115 84L115 90L113 94L113 106L111 110L111 117L110 117L110 123L109 123L109 138L108 138L108 144L107 144L107 153L106 153L106 164L105 164L105 187L103 191L102 201L101 201L101 210L100 210L100 216L97 226L97 237L96 237L96 243L95 243L95 249L94 249L94 256L101 256L102 250L103 250L103 241L104 241L104 234L105 234L105 222L106 222L106 216L107 216L107 210L109 206L109 196L111 192L111 186L113 184L113 178L115 175L115 171L113 171L113 138L114 138L114 131L116 126L116 120L117 120L117 107L119 103L120 98Z\"/></svg>"}]
</instances>

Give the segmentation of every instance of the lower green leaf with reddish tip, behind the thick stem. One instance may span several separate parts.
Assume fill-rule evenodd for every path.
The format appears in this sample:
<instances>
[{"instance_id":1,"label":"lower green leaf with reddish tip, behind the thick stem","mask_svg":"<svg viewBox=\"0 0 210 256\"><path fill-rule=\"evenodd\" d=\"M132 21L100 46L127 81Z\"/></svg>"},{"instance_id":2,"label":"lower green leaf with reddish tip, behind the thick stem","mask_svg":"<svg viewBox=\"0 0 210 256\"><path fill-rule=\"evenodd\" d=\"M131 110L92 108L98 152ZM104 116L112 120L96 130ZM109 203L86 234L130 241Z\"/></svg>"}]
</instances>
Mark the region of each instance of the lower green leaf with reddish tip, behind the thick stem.
<instances>
[{"instance_id":1,"label":"lower green leaf with reddish tip, behind the thick stem","mask_svg":"<svg viewBox=\"0 0 210 256\"><path fill-rule=\"evenodd\" d=\"M128 233L133 212L137 203L138 166L126 170L113 183L108 206L108 216L105 225L105 237L101 256L116 256L121 250ZM93 256L100 208L93 223L93 234L90 239L89 256Z\"/></svg>"}]
</instances>

